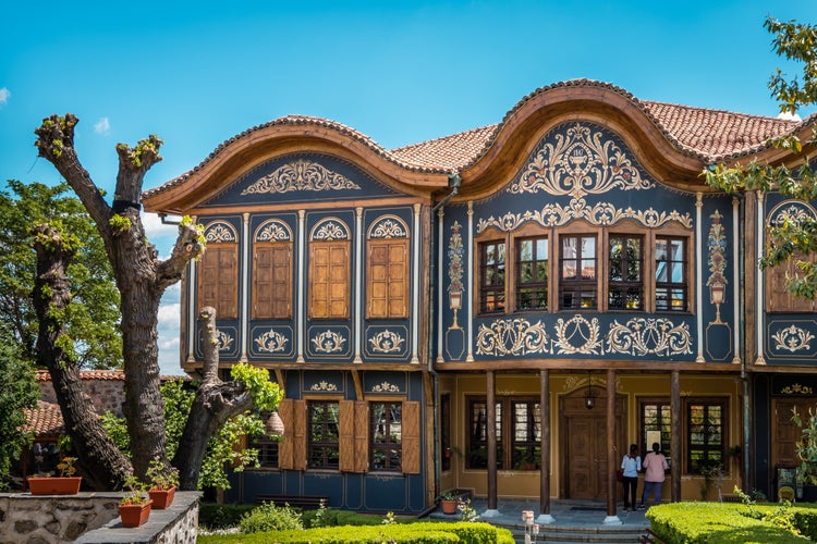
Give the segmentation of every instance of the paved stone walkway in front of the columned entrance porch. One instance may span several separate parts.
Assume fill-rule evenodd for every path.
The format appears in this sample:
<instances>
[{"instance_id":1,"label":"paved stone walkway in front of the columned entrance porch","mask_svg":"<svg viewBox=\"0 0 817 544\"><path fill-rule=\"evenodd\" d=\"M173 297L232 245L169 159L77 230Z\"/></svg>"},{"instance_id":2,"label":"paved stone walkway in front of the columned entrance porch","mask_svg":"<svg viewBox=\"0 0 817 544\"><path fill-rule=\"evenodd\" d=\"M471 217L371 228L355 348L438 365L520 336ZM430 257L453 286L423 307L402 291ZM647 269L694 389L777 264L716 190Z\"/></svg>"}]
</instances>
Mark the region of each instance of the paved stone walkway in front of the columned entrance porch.
<instances>
[{"instance_id":1,"label":"paved stone walkway in front of the columned entrance porch","mask_svg":"<svg viewBox=\"0 0 817 544\"><path fill-rule=\"evenodd\" d=\"M539 499L499 499L497 502L498 516L485 517L484 514L488 508L488 500L486 498L472 498L471 506L477 514L479 514L480 521L487 521L502 527L524 527L522 521L523 510L533 510L534 522L541 523L539 521ZM590 502L590 500L550 500L550 516L553 518L553 522L549 523L551 527L575 527L575 528L603 528L611 526L625 526L629 528L647 528L649 521L646 520L644 514L646 510L636 511L624 511L623 507L619 505L619 511L617 516L621 521L621 524L605 523L607 519L607 503ZM458 519L459 514L444 515L441 511L435 511L430 515L435 519Z\"/></svg>"}]
</instances>

